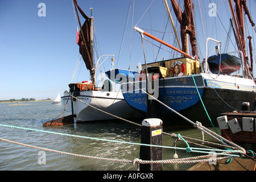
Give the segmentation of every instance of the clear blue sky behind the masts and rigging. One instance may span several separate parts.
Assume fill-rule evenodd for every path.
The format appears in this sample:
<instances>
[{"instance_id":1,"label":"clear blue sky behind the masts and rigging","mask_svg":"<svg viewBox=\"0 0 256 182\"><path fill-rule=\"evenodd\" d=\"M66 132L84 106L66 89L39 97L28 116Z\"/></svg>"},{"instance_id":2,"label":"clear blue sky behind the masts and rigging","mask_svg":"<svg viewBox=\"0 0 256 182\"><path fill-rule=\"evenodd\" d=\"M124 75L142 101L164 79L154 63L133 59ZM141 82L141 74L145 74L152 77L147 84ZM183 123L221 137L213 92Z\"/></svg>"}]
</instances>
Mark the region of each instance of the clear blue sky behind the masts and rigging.
<instances>
[{"instance_id":1,"label":"clear blue sky behind the masts and rigging","mask_svg":"<svg viewBox=\"0 0 256 182\"><path fill-rule=\"evenodd\" d=\"M93 8L99 55L115 55L114 68L130 67L136 71L137 63L144 63L141 35L133 31L135 24L160 39L163 37L162 32L170 20L162 0L154 0L152 4L151 2L152 0L135 0L135 3L129 0L77 0L86 15L90 16L90 8ZM211 9L210 2L217 5L217 13L220 13L217 17L208 14ZM40 3L44 3L45 9L39 6ZM170 5L170 1L168 3ZM247 3L256 22L256 1L247 0ZM130 5L134 5L134 10L129 9ZM197 41L200 42L203 56L205 37L212 36L214 39L225 41L225 30L219 30L222 25L218 21L221 20L224 26L228 26L227 17L230 11L226 5L225 0L200 0L200 6L198 1L195 1L195 22L199 26ZM129 12L129 21L126 24ZM40 16L42 13L46 16ZM174 12L171 13L177 24ZM206 15L201 18L203 13ZM80 20L81 23L84 22L81 16ZM68 84L71 81L89 80L89 72L82 60L72 80L76 63L80 59L79 46L76 44L77 26L79 24L75 18L72 0L0 0L0 100L54 99L58 92L63 96L63 92L69 90ZM169 33L164 34L164 39L172 44L174 34L170 23L167 28ZM226 29L228 30L228 27ZM256 37L255 32L252 36ZM147 43L145 48L147 61L154 61L156 53L150 50ZM170 49L163 48L168 52L160 51L161 58L157 60L170 58ZM157 52L158 48L155 47L155 50ZM97 61L98 57L94 59ZM110 68L111 61L107 59L104 67L101 67L102 72ZM98 75L97 78L100 82L101 76Z\"/></svg>"}]
</instances>

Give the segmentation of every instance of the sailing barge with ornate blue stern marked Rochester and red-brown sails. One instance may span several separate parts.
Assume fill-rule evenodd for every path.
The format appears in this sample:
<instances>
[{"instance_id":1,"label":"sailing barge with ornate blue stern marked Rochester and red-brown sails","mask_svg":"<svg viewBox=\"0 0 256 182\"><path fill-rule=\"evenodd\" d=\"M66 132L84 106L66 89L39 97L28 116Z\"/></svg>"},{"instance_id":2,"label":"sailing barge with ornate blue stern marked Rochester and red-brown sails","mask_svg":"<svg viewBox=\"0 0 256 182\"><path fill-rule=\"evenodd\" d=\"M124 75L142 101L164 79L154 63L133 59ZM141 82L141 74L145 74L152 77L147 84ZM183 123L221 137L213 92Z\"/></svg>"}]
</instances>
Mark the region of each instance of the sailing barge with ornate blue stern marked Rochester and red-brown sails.
<instances>
[{"instance_id":1,"label":"sailing barge with ornate blue stern marked Rochester and red-brown sails","mask_svg":"<svg viewBox=\"0 0 256 182\"><path fill-rule=\"evenodd\" d=\"M238 28L238 24L242 25L244 20L242 10L248 9L245 1L243 3L235 2L237 7L236 13L239 18L236 18L234 15L233 5L231 0L229 0L233 20L236 24L236 35L239 35L237 36L239 48L237 52L240 54L240 57L234 58L230 55L222 54L219 50L221 42L208 38L205 45L205 59L200 62L197 55L195 24L193 24L193 3L191 0L184 0L184 12L181 12L176 0L171 0L175 15L181 24L181 49L177 49L148 34L148 32L135 27L134 30L141 34L142 39L143 36L154 39L181 53L182 57L154 63L146 63L145 60L145 64L142 65L142 76L139 80L122 84L123 96L127 103L142 113L146 113L149 100L145 92L151 90L149 94L153 95L155 99L158 99L192 121L199 121L204 125L208 125L211 122L217 124L216 118L220 113L241 110L243 102L249 102L250 110L254 110L256 84L252 74L253 62L250 65L247 61L245 36L243 34L244 27ZM238 7L240 8L238 9ZM246 11L246 14L250 22L253 22L249 11ZM255 28L254 23L251 24ZM187 35L192 47L192 56L187 53ZM216 63L213 63L213 57L208 58L208 42L216 43L215 49L218 56L214 58L218 59ZM224 59L222 60L220 57ZM242 76L230 75L230 73L237 71L241 67L243 69ZM149 75L150 73L153 78ZM150 88L148 87L149 84L145 84L148 80L157 80L156 82L159 85L150 85ZM152 90L152 88L154 89ZM156 112L156 117L163 119L163 125L188 125L185 119L180 118L173 111L167 109L167 107L159 105L157 108L159 109Z\"/></svg>"}]
</instances>

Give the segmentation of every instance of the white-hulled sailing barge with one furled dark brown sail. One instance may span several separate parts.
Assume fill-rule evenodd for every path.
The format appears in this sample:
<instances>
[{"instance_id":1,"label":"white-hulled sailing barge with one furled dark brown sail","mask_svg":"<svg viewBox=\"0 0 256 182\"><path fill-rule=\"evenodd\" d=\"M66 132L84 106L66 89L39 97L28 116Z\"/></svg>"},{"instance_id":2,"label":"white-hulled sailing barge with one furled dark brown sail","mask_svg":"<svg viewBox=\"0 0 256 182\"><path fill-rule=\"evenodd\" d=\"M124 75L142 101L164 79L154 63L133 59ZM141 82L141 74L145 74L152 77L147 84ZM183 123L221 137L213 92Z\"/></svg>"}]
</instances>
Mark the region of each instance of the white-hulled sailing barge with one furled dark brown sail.
<instances>
[{"instance_id":1,"label":"white-hulled sailing barge with one furled dark brown sail","mask_svg":"<svg viewBox=\"0 0 256 182\"><path fill-rule=\"evenodd\" d=\"M103 56L109 57L114 55L103 55L94 64L94 18L93 16L87 16L77 5L76 0L73 3L80 24L80 32L77 32L77 44L79 44L79 52L85 62L86 68L90 71L90 81L69 84L69 91L65 91L64 96L61 97L64 105L72 109L72 115L77 122L116 119L113 115L121 118L142 117L143 115L141 113L126 103L122 92L113 91L113 85L109 80L104 81L102 88L96 87L96 71L100 67L98 66L98 61ZM82 26L77 9L85 19ZM112 67L113 61L114 59L112 58Z\"/></svg>"}]
</instances>

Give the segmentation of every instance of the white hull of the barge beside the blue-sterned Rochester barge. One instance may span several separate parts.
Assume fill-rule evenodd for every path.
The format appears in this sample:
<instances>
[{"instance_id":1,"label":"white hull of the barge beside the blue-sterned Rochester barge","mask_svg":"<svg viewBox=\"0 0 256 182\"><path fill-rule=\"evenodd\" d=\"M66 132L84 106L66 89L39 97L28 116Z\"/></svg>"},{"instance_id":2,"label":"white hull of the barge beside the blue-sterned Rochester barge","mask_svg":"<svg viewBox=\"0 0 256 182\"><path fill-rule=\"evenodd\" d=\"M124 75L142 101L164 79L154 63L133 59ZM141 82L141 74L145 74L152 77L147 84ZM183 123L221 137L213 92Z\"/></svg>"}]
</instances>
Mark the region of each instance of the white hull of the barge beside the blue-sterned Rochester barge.
<instances>
[{"instance_id":1,"label":"white hull of the barge beside the blue-sterned Rochester barge","mask_svg":"<svg viewBox=\"0 0 256 182\"><path fill-rule=\"evenodd\" d=\"M84 122L117 119L100 110L125 119L143 117L141 113L127 104L123 98L122 92L84 91L80 92L80 94L75 97L86 103L84 104L79 100L73 101L73 114L76 115L76 121ZM63 100L64 106L68 102L67 107L72 109L71 96L69 96L68 92L65 92L61 99Z\"/></svg>"}]
</instances>

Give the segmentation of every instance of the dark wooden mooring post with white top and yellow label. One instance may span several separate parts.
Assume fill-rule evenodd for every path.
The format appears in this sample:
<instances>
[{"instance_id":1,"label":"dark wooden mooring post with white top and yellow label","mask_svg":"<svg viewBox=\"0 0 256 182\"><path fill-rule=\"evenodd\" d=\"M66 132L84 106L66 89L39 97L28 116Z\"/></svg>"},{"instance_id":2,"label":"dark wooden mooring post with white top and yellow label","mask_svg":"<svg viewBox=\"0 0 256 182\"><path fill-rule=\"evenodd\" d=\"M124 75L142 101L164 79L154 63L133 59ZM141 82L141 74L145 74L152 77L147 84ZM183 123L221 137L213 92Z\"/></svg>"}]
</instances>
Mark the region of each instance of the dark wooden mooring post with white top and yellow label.
<instances>
[{"instance_id":1,"label":"dark wooden mooring post with white top and yellow label","mask_svg":"<svg viewBox=\"0 0 256 182\"><path fill-rule=\"evenodd\" d=\"M163 145L163 122L158 118L149 118L142 121L141 143L152 145ZM139 157L142 160L162 160L163 148L141 146ZM162 171L163 164L140 164L141 171Z\"/></svg>"}]
</instances>

